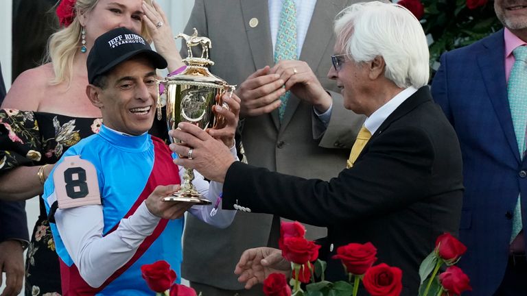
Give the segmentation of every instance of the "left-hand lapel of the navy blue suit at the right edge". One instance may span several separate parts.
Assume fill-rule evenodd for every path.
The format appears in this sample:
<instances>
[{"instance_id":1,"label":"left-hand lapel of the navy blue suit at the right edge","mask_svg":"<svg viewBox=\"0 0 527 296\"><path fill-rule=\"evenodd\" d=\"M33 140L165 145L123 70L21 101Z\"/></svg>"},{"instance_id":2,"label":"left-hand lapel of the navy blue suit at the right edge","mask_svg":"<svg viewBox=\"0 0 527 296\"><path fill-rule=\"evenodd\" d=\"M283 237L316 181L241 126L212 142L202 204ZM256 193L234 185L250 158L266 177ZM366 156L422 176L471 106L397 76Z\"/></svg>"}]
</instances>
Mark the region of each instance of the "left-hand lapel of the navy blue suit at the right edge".
<instances>
[{"instance_id":1,"label":"left-hand lapel of the navy blue suit at the right edge","mask_svg":"<svg viewBox=\"0 0 527 296\"><path fill-rule=\"evenodd\" d=\"M503 30L499 34L494 34L491 38L482 43L484 50L478 56L478 66L483 77L485 88L489 93L489 98L494 107L498 121L511 147L516 159L519 158L516 136L514 134L513 119L511 108L508 106L507 84L505 79L505 44ZM490 71L494 69L494 71Z\"/></svg>"}]
</instances>

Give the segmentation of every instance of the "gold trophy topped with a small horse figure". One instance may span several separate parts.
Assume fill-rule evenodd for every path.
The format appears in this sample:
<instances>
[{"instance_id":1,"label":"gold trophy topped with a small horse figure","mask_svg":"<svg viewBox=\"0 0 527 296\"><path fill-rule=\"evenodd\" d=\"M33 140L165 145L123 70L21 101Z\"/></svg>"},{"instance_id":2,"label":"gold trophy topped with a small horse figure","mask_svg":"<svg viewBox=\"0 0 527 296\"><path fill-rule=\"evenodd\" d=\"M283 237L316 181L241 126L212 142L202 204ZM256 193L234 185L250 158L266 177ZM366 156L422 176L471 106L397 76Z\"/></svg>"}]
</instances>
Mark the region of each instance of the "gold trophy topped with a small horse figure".
<instances>
[{"instance_id":1,"label":"gold trophy topped with a small horse figure","mask_svg":"<svg viewBox=\"0 0 527 296\"><path fill-rule=\"evenodd\" d=\"M188 56L183 60L187 69L174 76L165 77L158 81L165 86L167 101L167 125L168 130L174 130L180 122L188 122L198 127L207 129L223 124L224 118L216 118L212 112L212 106L219 104L224 108L229 108L223 103L222 97L225 93L231 93L235 86L227 84L223 79L209 72L207 66L214 62L209 60L209 48L211 40L199 37L196 28L191 36L179 34L177 38L184 38L187 44ZM201 45L202 52L200 58L194 58L192 47ZM157 117L161 120L161 94L157 100ZM176 138L170 138L172 143L180 143ZM180 156L181 157L181 156ZM164 197L164 201L187 201L194 204L211 204L194 188L192 184L194 172L185 168L181 188L172 196Z\"/></svg>"}]
</instances>

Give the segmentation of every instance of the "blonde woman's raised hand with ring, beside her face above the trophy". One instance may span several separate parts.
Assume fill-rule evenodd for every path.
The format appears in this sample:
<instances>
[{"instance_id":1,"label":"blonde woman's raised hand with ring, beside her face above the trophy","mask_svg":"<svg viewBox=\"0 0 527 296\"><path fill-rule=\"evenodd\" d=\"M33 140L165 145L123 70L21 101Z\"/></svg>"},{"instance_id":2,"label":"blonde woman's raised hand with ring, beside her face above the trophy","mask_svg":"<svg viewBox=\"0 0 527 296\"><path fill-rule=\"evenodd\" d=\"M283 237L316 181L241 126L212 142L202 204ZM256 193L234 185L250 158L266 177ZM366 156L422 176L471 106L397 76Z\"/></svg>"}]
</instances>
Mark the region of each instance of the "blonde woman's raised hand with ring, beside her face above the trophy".
<instances>
[{"instance_id":1,"label":"blonde woman's raised hand with ring, beside her face above the trophy","mask_svg":"<svg viewBox=\"0 0 527 296\"><path fill-rule=\"evenodd\" d=\"M181 66L185 66L176 47L172 28L161 6L155 1L152 1L152 5L143 1L142 7L144 12L143 23L146 25L150 36L152 36L152 42L154 42L156 51L167 60L168 71L172 72Z\"/></svg>"}]
</instances>

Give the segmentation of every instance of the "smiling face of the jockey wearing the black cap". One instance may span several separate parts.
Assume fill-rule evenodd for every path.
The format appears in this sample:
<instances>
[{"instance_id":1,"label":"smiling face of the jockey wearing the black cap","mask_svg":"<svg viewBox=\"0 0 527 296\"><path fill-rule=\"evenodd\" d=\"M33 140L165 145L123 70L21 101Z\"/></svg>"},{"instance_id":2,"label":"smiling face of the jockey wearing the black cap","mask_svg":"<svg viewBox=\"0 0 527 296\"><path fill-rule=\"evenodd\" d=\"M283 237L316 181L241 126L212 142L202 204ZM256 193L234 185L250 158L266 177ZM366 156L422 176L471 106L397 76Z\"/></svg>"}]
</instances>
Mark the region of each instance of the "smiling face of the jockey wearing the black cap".
<instances>
[{"instance_id":1,"label":"smiling face of the jockey wearing the black cap","mask_svg":"<svg viewBox=\"0 0 527 296\"><path fill-rule=\"evenodd\" d=\"M101 109L104 125L134 136L150 130L154 121L156 71L141 56L115 66L100 88L87 89L94 106Z\"/></svg>"}]
</instances>

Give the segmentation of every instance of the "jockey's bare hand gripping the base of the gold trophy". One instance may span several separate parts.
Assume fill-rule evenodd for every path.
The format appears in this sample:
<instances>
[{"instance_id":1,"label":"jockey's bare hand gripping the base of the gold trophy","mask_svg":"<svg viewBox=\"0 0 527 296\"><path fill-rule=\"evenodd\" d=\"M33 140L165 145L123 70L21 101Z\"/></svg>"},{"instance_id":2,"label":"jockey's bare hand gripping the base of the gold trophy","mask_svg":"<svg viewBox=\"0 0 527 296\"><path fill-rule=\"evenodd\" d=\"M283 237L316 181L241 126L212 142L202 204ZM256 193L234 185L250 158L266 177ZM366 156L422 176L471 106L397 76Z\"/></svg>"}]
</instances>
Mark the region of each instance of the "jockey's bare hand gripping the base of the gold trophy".
<instances>
[{"instance_id":1,"label":"jockey's bare hand gripping the base of the gold trophy","mask_svg":"<svg viewBox=\"0 0 527 296\"><path fill-rule=\"evenodd\" d=\"M187 202L165 202L163 197L172 195L180 188L179 185L157 186L145 200L146 208L154 216L162 219L179 219L192 206Z\"/></svg>"}]
</instances>

